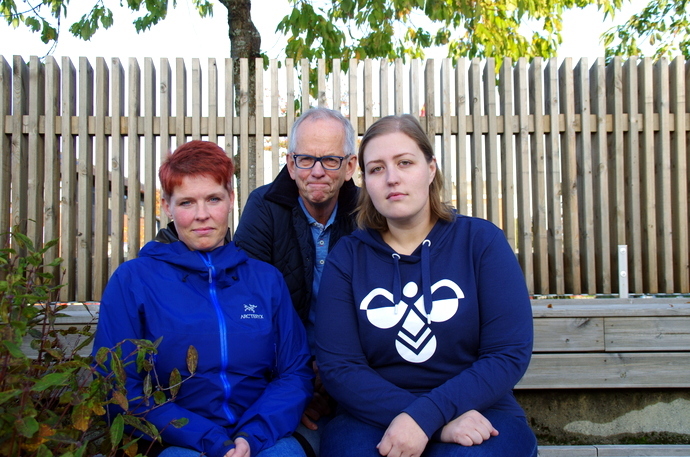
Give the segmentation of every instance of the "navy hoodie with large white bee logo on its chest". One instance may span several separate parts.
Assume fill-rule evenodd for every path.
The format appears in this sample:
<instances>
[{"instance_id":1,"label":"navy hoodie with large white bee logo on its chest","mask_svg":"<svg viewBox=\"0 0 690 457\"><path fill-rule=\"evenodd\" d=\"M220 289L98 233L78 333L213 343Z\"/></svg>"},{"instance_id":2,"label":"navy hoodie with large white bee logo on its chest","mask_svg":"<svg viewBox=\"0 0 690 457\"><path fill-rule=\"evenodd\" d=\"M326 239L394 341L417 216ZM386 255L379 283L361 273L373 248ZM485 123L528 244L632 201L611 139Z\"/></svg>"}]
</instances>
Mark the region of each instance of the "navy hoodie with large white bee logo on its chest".
<instances>
[{"instance_id":1,"label":"navy hoodie with large white bee logo on its chest","mask_svg":"<svg viewBox=\"0 0 690 457\"><path fill-rule=\"evenodd\" d=\"M532 310L503 232L439 221L412 255L374 230L329 254L316 315L319 373L359 420L406 412L428 437L469 410L524 416L512 389L529 365Z\"/></svg>"}]
</instances>

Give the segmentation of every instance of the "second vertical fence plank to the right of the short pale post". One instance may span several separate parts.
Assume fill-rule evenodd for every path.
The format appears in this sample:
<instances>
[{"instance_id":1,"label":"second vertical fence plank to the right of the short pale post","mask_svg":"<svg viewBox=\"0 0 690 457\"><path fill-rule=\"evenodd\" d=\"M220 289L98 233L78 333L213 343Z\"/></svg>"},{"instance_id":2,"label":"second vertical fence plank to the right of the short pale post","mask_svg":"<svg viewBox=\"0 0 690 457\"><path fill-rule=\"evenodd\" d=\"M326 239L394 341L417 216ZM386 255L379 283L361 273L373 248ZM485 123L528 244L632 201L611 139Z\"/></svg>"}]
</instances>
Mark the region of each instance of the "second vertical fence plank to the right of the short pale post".
<instances>
[{"instance_id":1,"label":"second vertical fence plank to the right of the short pale post","mask_svg":"<svg viewBox=\"0 0 690 457\"><path fill-rule=\"evenodd\" d=\"M655 168L654 161L656 152L654 150L654 75L652 60L644 58L637 67L637 79L640 85L639 91L639 111L642 115L640 121L640 208L642 214L640 215L640 223L642 224L642 252L640 252L640 259L642 261L643 269L643 290L650 294L659 292L658 270L657 270L657 227L656 227L656 183L655 183ZM657 92L658 93L658 92ZM668 107L668 93L666 93L666 106ZM666 116L660 114L660 127L666 125L668 122L663 122L662 118L668 121L668 110ZM666 143L666 150L668 150L668 132L659 132L659 145ZM660 150L661 151L661 150ZM670 185L670 183L668 184ZM662 246L660 246L662 247Z\"/></svg>"}]
</instances>

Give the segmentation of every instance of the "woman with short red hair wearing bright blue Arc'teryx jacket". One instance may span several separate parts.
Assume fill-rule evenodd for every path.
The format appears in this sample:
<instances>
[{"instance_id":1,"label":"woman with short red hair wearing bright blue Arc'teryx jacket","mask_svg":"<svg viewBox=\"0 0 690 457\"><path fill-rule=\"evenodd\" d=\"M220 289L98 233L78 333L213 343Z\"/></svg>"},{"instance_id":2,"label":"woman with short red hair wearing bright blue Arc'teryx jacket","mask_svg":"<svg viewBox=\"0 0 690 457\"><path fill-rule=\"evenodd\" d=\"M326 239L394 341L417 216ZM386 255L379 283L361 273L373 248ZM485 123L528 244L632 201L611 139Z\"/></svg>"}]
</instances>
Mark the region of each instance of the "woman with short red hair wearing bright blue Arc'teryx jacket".
<instances>
[{"instance_id":1,"label":"woman with short red hair wearing bright blue Arc'teryx jacket","mask_svg":"<svg viewBox=\"0 0 690 457\"><path fill-rule=\"evenodd\" d=\"M218 145L191 141L159 171L162 209L172 222L139 257L110 278L101 301L94 354L131 339L155 341L160 382L190 376L177 398L144 405L143 374L125 366L130 407L162 431L159 457L298 457L290 434L312 397L306 333L282 274L250 259L230 240L232 160ZM186 418L181 428L171 421ZM146 439L146 437L144 437ZM147 453L149 442L140 441Z\"/></svg>"}]
</instances>

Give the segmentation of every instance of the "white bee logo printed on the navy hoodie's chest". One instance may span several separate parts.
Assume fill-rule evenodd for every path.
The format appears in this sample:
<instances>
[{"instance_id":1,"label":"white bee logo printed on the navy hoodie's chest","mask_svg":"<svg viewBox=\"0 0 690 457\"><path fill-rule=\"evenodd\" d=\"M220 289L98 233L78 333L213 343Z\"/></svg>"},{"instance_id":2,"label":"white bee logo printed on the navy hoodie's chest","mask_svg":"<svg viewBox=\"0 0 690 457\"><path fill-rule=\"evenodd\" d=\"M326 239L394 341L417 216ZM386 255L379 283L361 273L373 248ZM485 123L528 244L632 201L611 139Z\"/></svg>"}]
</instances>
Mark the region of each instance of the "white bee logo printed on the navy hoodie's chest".
<instances>
[{"instance_id":1,"label":"white bee logo printed on the navy hoodie's chest","mask_svg":"<svg viewBox=\"0 0 690 457\"><path fill-rule=\"evenodd\" d=\"M431 323L444 322L453 317L458 311L460 299L465 298L462 289L450 279L442 279L432 285L431 293L442 287L449 288L455 297L433 300L428 315L424 309L423 295L412 306L405 303L404 299L396 305L393 303L393 294L382 288L369 292L360 303L359 309L365 310L369 322L378 328L391 328L402 320L402 328L395 340L398 354L408 362L426 362L436 352L436 336L431 331ZM419 287L413 282L408 282L403 287L403 296L408 299L416 296L418 292ZM369 304L376 297L385 298L391 306L369 309Z\"/></svg>"}]
</instances>

